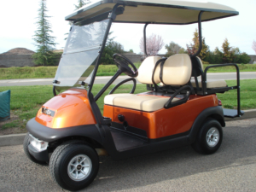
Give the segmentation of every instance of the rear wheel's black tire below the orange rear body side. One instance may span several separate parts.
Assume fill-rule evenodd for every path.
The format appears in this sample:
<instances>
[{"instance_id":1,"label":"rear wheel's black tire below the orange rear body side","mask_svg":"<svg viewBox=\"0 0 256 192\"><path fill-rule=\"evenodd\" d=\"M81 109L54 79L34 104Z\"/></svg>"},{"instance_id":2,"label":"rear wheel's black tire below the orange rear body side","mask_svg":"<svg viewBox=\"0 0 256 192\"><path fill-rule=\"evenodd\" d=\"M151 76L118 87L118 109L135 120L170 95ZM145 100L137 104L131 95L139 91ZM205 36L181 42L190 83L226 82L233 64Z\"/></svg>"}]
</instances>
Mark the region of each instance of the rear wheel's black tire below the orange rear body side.
<instances>
[{"instance_id":1,"label":"rear wheel's black tire below the orange rear body side","mask_svg":"<svg viewBox=\"0 0 256 192\"><path fill-rule=\"evenodd\" d=\"M212 131L214 131L214 135L218 135L218 137L210 134ZM207 137L207 133L209 133L208 136L210 135L212 137ZM195 143L192 144L192 148L200 154L214 154L220 147L222 139L223 131L218 120L207 119L204 124L201 125L201 129L198 132Z\"/></svg>"}]
</instances>

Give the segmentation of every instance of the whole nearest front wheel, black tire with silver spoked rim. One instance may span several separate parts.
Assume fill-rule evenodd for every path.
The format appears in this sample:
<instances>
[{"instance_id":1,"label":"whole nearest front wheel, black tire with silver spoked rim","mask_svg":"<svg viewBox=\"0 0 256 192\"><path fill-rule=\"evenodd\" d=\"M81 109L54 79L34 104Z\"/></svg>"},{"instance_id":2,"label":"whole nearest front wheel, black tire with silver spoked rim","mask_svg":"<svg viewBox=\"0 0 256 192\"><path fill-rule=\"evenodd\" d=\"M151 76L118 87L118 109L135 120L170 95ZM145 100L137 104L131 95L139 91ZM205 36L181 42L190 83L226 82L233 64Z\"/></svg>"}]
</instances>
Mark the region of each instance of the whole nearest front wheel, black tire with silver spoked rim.
<instances>
[{"instance_id":1,"label":"whole nearest front wheel, black tire with silver spoked rim","mask_svg":"<svg viewBox=\"0 0 256 192\"><path fill-rule=\"evenodd\" d=\"M61 188L84 189L95 179L99 158L94 148L84 143L64 143L57 147L49 161L49 172Z\"/></svg>"}]
</instances>

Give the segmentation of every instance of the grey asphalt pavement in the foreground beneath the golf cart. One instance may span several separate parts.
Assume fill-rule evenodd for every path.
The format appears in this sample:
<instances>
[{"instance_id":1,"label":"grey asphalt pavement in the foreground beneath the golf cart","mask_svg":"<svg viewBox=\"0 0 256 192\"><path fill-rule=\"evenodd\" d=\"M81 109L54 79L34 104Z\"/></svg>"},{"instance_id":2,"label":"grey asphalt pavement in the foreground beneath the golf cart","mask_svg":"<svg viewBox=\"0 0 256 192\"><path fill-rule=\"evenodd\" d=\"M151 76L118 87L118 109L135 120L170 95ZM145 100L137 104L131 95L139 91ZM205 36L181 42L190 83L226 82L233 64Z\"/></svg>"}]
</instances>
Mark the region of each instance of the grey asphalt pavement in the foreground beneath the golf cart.
<instances>
[{"instance_id":1,"label":"grey asphalt pavement in the foreground beneath the golf cart","mask_svg":"<svg viewBox=\"0 0 256 192\"><path fill-rule=\"evenodd\" d=\"M229 121L218 152L190 147L113 161L101 157L95 181L83 191L255 191L256 119ZM62 191L48 166L26 159L21 145L0 148L0 191Z\"/></svg>"}]
</instances>

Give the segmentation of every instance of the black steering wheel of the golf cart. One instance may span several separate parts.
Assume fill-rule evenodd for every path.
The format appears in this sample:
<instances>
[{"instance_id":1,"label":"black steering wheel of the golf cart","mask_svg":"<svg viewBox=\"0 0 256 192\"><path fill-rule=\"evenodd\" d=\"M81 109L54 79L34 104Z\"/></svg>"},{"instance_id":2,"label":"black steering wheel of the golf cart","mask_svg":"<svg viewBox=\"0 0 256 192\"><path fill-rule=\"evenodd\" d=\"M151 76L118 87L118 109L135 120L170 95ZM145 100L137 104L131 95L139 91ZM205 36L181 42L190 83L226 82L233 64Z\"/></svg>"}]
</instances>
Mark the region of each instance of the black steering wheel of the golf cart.
<instances>
[{"instance_id":1,"label":"black steering wheel of the golf cart","mask_svg":"<svg viewBox=\"0 0 256 192\"><path fill-rule=\"evenodd\" d=\"M119 70L126 75L136 78L137 77L137 67L124 55L120 54L113 54L113 61L115 62L116 66L119 67ZM131 67L129 67L131 65Z\"/></svg>"}]
</instances>

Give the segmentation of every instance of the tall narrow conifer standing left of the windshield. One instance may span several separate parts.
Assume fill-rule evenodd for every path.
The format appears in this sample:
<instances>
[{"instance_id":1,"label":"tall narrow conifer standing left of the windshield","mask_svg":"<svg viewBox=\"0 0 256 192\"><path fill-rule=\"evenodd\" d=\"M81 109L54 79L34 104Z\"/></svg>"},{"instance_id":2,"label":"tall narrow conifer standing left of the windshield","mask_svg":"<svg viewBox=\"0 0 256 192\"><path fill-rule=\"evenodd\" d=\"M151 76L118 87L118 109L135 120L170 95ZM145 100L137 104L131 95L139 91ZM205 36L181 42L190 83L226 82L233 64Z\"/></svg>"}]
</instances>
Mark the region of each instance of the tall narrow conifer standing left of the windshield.
<instances>
[{"instance_id":1,"label":"tall narrow conifer standing left of the windshield","mask_svg":"<svg viewBox=\"0 0 256 192\"><path fill-rule=\"evenodd\" d=\"M50 29L49 18L46 15L46 0L41 0L40 9L38 9L38 30L35 32L33 40L36 42L37 51L32 58L36 65L55 65L56 57L53 53L55 48L55 38L50 36L52 33Z\"/></svg>"}]
</instances>

